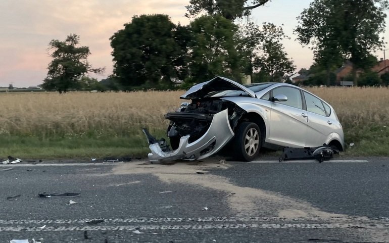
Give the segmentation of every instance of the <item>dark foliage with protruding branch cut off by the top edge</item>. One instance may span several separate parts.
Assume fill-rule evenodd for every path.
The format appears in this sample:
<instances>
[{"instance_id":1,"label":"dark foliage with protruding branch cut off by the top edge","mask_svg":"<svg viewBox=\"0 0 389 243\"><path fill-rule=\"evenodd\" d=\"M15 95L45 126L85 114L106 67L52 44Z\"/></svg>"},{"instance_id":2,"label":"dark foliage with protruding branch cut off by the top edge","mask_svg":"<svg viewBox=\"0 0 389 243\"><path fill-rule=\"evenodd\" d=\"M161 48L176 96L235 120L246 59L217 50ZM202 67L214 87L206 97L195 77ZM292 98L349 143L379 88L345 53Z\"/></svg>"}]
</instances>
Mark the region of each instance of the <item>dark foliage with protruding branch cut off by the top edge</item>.
<instances>
[{"instance_id":1,"label":"dark foliage with protruding branch cut off by the top edge","mask_svg":"<svg viewBox=\"0 0 389 243\"><path fill-rule=\"evenodd\" d=\"M270 0L190 0L186 6L186 17L196 17L201 12L209 15L221 15L228 20L249 16L255 8Z\"/></svg>"}]
</instances>

